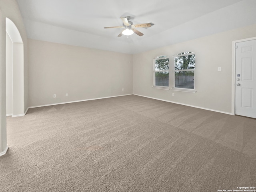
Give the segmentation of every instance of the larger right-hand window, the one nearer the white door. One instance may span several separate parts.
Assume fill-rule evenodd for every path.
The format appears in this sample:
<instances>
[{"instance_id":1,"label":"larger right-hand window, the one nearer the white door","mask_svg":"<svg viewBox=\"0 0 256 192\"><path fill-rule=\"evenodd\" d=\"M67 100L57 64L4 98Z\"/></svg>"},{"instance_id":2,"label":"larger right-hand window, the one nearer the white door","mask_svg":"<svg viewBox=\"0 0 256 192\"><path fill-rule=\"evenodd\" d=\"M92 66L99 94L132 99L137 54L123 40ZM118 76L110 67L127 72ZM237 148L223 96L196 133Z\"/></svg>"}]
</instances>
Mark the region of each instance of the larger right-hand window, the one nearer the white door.
<instances>
[{"instance_id":1,"label":"larger right-hand window, the one nearer the white door","mask_svg":"<svg viewBox=\"0 0 256 192\"><path fill-rule=\"evenodd\" d=\"M174 56L173 90L195 91L195 60L194 52L182 52Z\"/></svg>"}]
</instances>

